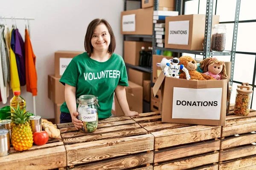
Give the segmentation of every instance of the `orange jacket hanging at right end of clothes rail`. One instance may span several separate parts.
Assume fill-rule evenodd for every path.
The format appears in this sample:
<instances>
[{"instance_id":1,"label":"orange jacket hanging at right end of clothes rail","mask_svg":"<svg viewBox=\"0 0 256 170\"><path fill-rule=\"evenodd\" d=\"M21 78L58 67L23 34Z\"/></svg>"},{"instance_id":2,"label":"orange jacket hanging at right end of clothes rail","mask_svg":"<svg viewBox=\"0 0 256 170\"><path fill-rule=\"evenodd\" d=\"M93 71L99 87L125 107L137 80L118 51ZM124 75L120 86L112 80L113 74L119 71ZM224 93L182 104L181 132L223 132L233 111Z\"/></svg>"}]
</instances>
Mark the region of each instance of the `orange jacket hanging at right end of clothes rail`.
<instances>
[{"instance_id":1,"label":"orange jacket hanging at right end of clothes rail","mask_svg":"<svg viewBox=\"0 0 256 170\"><path fill-rule=\"evenodd\" d=\"M28 30L25 29L25 69L26 69L26 89L37 96L37 74L35 69L35 54L30 42Z\"/></svg>"}]
</instances>

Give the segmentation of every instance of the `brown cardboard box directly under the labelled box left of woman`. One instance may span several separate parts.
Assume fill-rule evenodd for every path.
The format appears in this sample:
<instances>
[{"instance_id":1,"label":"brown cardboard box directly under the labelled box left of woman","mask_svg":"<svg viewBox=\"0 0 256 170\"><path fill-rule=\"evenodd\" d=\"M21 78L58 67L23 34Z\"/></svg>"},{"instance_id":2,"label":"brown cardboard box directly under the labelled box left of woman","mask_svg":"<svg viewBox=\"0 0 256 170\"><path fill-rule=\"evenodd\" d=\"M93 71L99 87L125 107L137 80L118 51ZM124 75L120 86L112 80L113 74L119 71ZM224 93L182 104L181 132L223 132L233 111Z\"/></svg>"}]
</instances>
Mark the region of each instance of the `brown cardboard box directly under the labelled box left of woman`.
<instances>
[{"instance_id":1,"label":"brown cardboard box directly under the labelled box left of woman","mask_svg":"<svg viewBox=\"0 0 256 170\"><path fill-rule=\"evenodd\" d=\"M48 98L54 103L65 102L65 86L59 82L61 78L48 75Z\"/></svg>"}]
</instances>

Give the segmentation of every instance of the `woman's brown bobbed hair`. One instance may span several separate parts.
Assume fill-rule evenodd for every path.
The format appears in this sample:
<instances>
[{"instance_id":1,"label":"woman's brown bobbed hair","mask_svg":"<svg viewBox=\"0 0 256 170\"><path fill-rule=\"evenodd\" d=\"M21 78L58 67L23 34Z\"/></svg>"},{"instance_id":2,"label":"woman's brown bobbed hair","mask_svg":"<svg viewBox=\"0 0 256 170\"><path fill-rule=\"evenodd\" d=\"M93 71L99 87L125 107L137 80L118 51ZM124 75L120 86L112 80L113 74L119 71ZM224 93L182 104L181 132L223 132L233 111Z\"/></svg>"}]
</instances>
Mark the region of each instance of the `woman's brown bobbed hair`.
<instances>
[{"instance_id":1,"label":"woman's brown bobbed hair","mask_svg":"<svg viewBox=\"0 0 256 170\"><path fill-rule=\"evenodd\" d=\"M108 47L108 53L112 54L115 51L116 40L115 40L115 36L114 36L111 26L109 25L108 21L106 21L104 19L97 18L90 22L89 26L87 27L87 31L86 31L86 34L84 37L84 49L85 49L85 51L87 51L87 54L89 57L91 57L91 55L93 53L93 45L91 44L93 32L94 32L96 26L98 26L100 24L104 24L108 28L108 32L110 34L110 44Z\"/></svg>"}]
</instances>

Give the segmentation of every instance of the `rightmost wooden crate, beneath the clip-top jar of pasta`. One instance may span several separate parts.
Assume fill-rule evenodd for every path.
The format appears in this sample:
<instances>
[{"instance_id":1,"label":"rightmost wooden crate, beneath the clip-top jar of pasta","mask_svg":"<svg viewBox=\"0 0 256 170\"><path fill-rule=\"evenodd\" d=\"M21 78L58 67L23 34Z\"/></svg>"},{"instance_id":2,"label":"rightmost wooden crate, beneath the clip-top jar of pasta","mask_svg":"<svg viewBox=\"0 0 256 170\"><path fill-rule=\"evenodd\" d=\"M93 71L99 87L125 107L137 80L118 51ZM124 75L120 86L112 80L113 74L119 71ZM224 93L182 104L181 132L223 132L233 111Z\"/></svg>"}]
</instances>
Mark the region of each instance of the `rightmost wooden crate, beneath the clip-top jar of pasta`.
<instances>
[{"instance_id":1,"label":"rightmost wooden crate, beneath the clip-top jar of pasta","mask_svg":"<svg viewBox=\"0 0 256 170\"><path fill-rule=\"evenodd\" d=\"M233 108L221 129L219 170L256 169L256 111L236 116Z\"/></svg>"}]
</instances>

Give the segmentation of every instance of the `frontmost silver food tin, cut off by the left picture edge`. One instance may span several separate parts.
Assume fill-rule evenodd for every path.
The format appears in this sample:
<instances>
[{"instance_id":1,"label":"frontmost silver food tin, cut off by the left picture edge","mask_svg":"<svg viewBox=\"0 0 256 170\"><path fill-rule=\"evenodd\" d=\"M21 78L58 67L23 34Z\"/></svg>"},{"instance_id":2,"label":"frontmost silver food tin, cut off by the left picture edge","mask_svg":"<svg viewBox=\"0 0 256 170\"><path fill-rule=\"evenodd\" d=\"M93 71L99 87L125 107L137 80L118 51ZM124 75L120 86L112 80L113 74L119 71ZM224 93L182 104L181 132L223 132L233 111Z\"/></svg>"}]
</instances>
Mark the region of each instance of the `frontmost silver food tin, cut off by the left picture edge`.
<instances>
[{"instance_id":1,"label":"frontmost silver food tin, cut off by the left picture edge","mask_svg":"<svg viewBox=\"0 0 256 170\"><path fill-rule=\"evenodd\" d=\"M7 129L0 129L0 156L10 153L10 133Z\"/></svg>"}]
</instances>

